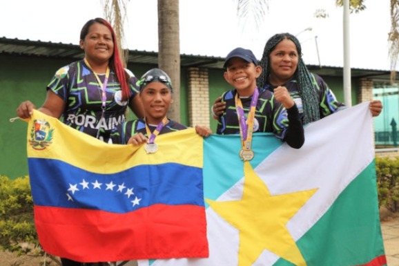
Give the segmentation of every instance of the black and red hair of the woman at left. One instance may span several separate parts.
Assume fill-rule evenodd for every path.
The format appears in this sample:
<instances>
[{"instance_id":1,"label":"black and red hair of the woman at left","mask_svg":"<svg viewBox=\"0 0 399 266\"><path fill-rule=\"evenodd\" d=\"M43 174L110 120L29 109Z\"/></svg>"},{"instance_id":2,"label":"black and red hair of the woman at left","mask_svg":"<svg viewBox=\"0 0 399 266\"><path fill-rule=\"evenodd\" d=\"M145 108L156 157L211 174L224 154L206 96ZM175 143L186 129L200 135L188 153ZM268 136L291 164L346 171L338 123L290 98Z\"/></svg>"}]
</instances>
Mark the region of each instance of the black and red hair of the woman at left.
<instances>
[{"instance_id":1,"label":"black and red hair of the woman at left","mask_svg":"<svg viewBox=\"0 0 399 266\"><path fill-rule=\"evenodd\" d=\"M108 21L106 21L105 19L101 19L100 17L97 17L95 19L90 19L89 21L86 22L86 24L84 24L83 28L81 28L80 39L84 40L86 35L88 35L88 30L89 30L90 26L92 26L93 23L103 24L111 32L111 35L113 37L113 42L114 42L114 50L113 50L114 53L110 57L109 66L111 69L114 70L115 75L117 76L117 80L118 80L119 84L121 85L122 99L126 101L130 97L130 90L129 90L129 86L128 86L129 75L126 74L124 65L122 64L122 61L121 61L121 57L119 56L119 50L118 50L118 46L116 43L117 39L116 39L115 31L113 30L113 26L111 26Z\"/></svg>"}]
</instances>

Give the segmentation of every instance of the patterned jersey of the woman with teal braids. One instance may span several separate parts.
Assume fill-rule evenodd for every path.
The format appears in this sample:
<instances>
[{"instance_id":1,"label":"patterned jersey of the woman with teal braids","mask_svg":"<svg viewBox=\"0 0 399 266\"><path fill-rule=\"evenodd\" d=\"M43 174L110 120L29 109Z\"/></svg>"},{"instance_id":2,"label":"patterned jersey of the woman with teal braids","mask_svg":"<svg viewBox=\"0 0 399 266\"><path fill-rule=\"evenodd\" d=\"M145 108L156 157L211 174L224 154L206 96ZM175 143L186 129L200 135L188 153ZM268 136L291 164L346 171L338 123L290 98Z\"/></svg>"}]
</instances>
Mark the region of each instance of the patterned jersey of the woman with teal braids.
<instances>
[{"instance_id":1,"label":"patterned jersey of the woman with teal braids","mask_svg":"<svg viewBox=\"0 0 399 266\"><path fill-rule=\"evenodd\" d=\"M320 118L326 117L327 115L331 115L332 113L335 113L336 111L345 108L344 104L338 102L337 98L335 98L333 91L330 90L329 86L327 86L322 77L311 73L311 80L318 93L318 99L320 103ZM285 86L289 91L291 97L298 107L300 117L302 119L303 107L302 99L300 98L300 93L298 91L298 82L295 79L291 79L291 81L282 86ZM266 84L266 86L264 87L264 89L268 91L273 91L274 88L276 88L276 86L273 86L271 84Z\"/></svg>"}]
</instances>

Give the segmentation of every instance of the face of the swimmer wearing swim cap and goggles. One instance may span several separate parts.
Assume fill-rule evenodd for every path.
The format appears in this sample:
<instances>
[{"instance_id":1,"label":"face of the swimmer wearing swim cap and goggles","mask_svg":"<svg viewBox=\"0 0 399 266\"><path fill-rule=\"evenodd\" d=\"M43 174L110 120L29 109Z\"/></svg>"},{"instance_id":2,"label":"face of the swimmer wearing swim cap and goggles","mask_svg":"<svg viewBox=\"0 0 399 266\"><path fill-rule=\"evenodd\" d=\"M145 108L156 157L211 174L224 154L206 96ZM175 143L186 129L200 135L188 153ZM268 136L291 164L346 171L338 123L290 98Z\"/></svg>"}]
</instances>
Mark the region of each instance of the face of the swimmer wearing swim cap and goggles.
<instances>
[{"instance_id":1,"label":"face of the swimmer wearing swim cap and goggles","mask_svg":"<svg viewBox=\"0 0 399 266\"><path fill-rule=\"evenodd\" d=\"M173 103L171 90L161 82L151 82L147 84L140 93L146 122L148 124L159 124L162 122L169 106Z\"/></svg>"}]
</instances>

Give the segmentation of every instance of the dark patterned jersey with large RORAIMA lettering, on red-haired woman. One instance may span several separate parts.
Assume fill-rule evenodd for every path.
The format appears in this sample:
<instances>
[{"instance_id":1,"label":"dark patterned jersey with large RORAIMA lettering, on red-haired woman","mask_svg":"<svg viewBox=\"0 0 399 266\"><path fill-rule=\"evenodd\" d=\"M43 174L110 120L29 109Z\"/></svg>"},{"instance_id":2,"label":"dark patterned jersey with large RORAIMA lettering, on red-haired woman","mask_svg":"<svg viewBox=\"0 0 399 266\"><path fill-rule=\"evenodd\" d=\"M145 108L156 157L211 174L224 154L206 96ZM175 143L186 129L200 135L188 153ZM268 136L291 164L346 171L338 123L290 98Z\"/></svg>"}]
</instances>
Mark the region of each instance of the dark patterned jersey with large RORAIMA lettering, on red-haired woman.
<instances>
[{"instance_id":1,"label":"dark patterned jersey with large RORAIMA lettering, on red-haired woman","mask_svg":"<svg viewBox=\"0 0 399 266\"><path fill-rule=\"evenodd\" d=\"M137 95L137 79L129 70L130 100ZM105 74L98 75L104 82ZM110 70L106 88L106 112L101 119L101 92L95 75L84 60L73 62L57 70L47 88L66 102L62 120L68 126L96 137L100 129L99 139L108 142L110 131L125 121L128 102L121 102L121 87L113 70ZM101 119L101 120L100 120Z\"/></svg>"}]
</instances>

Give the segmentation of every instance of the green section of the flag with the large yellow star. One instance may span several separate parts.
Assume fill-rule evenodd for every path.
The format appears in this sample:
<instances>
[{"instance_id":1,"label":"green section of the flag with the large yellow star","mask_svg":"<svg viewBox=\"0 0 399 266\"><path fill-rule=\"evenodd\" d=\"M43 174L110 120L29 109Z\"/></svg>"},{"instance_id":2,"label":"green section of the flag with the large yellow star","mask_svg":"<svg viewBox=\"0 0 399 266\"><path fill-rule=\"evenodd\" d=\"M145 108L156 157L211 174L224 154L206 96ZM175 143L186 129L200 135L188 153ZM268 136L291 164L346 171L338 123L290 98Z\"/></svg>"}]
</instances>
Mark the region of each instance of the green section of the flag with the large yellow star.
<instances>
[{"instance_id":1,"label":"green section of the flag with the large yellow star","mask_svg":"<svg viewBox=\"0 0 399 266\"><path fill-rule=\"evenodd\" d=\"M327 213L297 241L307 266L365 265L384 255L377 204L376 165L371 162ZM340 256L329 256L340 254ZM279 259L275 266L293 265Z\"/></svg>"}]
</instances>

